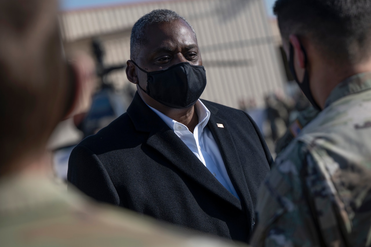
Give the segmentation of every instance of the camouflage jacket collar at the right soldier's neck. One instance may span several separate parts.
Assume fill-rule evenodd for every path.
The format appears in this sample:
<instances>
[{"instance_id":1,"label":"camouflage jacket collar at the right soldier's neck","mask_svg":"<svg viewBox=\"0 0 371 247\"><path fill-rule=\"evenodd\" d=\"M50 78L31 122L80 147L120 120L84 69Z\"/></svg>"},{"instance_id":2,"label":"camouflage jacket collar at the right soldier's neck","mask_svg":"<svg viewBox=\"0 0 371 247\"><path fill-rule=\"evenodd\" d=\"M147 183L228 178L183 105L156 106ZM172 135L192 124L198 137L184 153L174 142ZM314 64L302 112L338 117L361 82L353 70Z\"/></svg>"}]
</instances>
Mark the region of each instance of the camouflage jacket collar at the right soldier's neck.
<instances>
[{"instance_id":1,"label":"camouflage jacket collar at the right soldier's neck","mask_svg":"<svg viewBox=\"0 0 371 247\"><path fill-rule=\"evenodd\" d=\"M371 72L359 73L340 82L328 96L325 108L340 98L371 89Z\"/></svg>"}]
</instances>

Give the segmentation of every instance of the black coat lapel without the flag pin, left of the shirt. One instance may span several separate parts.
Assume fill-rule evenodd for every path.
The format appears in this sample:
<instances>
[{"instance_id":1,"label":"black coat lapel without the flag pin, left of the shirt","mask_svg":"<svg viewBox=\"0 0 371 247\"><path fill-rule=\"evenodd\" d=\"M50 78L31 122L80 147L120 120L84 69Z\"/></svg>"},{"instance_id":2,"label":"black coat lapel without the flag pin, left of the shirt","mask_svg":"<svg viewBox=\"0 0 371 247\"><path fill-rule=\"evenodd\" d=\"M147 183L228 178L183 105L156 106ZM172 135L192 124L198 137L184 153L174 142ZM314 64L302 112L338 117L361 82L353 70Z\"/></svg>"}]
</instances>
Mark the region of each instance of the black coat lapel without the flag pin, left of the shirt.
<instances>
[{"instance_id":1,"label":"black coat lapel without the flag pin, left of the shirt","mask_svg":"<svg viewBox=\"0 0 371 247\"><path fill-rule=\"evenodd\" d=\"M127 112L137 131L149 132L148 146L200 186L242 210L240 201L217 181L174 131L142 101L138 93Z\"/></svg>"}]
</instances>

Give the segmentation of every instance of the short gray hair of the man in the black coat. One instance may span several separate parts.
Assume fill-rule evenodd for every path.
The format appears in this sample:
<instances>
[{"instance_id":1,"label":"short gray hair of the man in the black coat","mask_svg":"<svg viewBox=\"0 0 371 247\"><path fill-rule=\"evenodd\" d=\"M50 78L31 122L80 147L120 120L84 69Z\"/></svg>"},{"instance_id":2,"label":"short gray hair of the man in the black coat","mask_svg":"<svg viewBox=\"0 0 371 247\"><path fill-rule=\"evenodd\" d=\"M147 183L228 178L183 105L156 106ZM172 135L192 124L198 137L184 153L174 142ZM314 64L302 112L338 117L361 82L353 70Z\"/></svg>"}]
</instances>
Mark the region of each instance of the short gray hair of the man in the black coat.
<instances>
[{"instance_id":1,"label":"short gray hair of the man in the black coat","mask_svg":"<svg viewBox=\"0 0 371 247\"><path fill-rule=\"evenodd\" d=\"M184 20L192 29L194 36L196 33L193 30L193 27L188 23L183 16L180 16L173 10L168 9L156 9L152 10L150 13L145 14L140 17L137 22L135 22L130 36L130 59L135 60L137 57L141 46L147 43L147 38L145 37L144 30L146 27L153 24L158 24L162 22L173 22L174 20Z\"/></svg>"}]
</instances>

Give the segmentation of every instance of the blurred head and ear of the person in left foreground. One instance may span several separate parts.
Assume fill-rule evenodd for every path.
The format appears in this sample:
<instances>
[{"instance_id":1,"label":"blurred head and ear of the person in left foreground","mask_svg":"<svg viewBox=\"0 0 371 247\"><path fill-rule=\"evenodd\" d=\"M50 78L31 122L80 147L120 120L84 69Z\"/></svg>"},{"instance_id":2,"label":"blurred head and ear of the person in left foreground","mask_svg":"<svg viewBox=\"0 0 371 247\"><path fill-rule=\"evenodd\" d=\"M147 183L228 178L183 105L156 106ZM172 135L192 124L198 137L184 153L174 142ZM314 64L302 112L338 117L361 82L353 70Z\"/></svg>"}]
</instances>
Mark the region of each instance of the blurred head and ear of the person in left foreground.
<instances>
[{"instance_id":1,"label":"blurred head and ear of the person in left foreground","mask_svg":"<svg viewBox=\"0 0 371 247\"><path fill-rule=\"evenodd\" d=\"M0 176L39 169L57 123L88 102L93 63L68 65L57 11L55 0L0 0Z\"/></svg>"}]
</instances>

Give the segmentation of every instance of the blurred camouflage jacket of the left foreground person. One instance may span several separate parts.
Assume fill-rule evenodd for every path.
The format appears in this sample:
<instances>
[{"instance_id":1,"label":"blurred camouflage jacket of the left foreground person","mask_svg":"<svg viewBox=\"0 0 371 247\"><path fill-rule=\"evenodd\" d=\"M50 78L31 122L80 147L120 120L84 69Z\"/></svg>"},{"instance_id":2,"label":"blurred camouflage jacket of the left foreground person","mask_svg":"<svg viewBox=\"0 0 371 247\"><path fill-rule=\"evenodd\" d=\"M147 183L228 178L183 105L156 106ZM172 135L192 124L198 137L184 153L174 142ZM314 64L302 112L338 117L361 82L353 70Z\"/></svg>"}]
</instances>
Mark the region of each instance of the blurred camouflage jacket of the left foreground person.
<instances>
[{"instance_id":1,"label":"blurred camouflage jacket of the left foreground person","mask_svg":"<svg viewBox=\"0 0 371 247\"><path fill-rule=\"evenodd\" d=\"M152 218L96 204L70 191L67 194L66 188L44 178L12 177L0 180L0 246L237 245L180 234Z\"/></svg>"}]
</instances>

